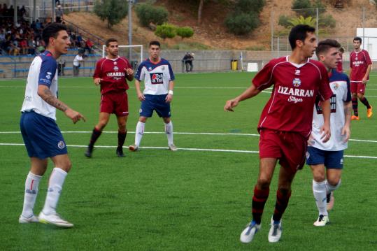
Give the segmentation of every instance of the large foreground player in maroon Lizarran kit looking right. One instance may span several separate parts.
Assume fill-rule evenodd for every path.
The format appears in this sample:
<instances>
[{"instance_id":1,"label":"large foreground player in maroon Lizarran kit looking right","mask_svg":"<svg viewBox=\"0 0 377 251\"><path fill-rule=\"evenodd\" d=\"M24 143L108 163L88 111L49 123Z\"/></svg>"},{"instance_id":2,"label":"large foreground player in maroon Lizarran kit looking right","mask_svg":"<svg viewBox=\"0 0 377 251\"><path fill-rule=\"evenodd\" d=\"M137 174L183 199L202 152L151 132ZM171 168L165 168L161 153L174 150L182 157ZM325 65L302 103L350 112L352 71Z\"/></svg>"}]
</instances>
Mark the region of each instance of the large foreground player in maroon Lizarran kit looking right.
<instances>
[{"instance_id":1,"label":"large foreground player in maroon Lizarran kit looking right","mask_svg":"<svg viewBox=\"0 0 377 251\"><path fill-rule=\"evenodd\" d=\"M290 31L291 55L272 59L252 80L252 85L235 99L225 103L225 110L233 111L240 101L256 96L273 85L271 98L260 116L259 176L252 197L252 221L241 233L240 241L250 243L261 228L264 204L279 160L280 171L276 205L271 218L269 242L280 240L281 218L288 206L291 185L296 172L305 164L308 137L311 134L313 106L320 96L324 117L322 141L330 138L330 101L332 91L325 66L309 59L317 48L315 29L299 24Z\"/></svg>"}]
</instances>

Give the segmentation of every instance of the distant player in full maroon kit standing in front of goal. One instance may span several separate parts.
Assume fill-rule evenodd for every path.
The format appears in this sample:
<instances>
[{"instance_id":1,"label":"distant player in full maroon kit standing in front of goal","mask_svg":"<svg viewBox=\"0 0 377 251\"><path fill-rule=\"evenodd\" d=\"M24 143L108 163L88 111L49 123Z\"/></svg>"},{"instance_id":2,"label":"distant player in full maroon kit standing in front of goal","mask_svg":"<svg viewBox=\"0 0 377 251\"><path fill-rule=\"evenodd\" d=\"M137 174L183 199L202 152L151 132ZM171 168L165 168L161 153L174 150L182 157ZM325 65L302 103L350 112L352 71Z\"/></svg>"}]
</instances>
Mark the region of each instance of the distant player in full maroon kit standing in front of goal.
<instances>
[{"instance_id":1,"label":"distant player in full maroon kit standing in front of goal","mask_svg":"<svg viewBox=\"0 0 377 251\"><path fill-rule=\"evenodd\" d=\"M123 145L127 136L128 96L127 80L134 79L134 70L125 57L118 55L118 41L109 38L106 41L107 56L99 59L94 71L94 85L101 86L101 105L99 109L99 122L93 129L90 143L85 156L92 157L94 143L96 143L102 130L108 124L111 113L115 113L118 120L118 147L115 151L118 157L125 157Z\"/></svg>"}]
</instances>

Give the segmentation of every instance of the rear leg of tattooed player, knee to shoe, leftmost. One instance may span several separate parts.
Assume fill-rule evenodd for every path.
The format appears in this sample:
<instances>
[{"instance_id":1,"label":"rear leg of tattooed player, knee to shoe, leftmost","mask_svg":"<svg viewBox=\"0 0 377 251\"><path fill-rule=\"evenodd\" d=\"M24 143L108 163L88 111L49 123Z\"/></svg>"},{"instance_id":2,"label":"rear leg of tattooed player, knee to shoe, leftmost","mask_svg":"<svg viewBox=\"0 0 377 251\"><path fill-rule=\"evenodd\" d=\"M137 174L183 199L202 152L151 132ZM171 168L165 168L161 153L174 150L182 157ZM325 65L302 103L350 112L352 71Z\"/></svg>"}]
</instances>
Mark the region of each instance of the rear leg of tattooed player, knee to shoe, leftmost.
<instances>
[{"instance_id":1,"label":"rear leg of tattooed player, knee to shoe, leftmost","mask_svg":"<svg viewBox=\"0 0 377 251\"><path fill-rule=\"evenodd\" d=\"M31 168L25 180L24 206L20 215L20 223L38 222L38 217L34 215L34 204L38 195L39 182L46 171L48 160L30 158Z\"/></svg>"}]
</instances>

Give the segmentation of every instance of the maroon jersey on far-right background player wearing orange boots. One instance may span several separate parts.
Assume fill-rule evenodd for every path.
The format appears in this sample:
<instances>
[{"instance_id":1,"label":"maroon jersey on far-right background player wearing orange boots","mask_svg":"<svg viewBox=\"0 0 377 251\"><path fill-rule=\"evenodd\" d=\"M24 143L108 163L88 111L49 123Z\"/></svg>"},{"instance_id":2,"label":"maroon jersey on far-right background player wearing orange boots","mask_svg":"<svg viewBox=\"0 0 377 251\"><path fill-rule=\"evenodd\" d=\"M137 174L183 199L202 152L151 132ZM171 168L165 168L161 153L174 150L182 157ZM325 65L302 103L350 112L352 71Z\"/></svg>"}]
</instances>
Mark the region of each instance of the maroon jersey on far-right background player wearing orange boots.
<instances>
[{"instance_id":1,"label":"maroon jersey on far-right background player wearing orange boots","mask_svg":"<svg viewBox=\"0 0 377 251\"><path fill-rule=\"evenodd\" d=\"M350 82L362 82L369 64L372 64L371 57L367 50L360 50L360 52L351 52L350 54L350 68L352 72L350 75ZM369 80L369 76L367 78Z\"/></svg>"}]
</instances>

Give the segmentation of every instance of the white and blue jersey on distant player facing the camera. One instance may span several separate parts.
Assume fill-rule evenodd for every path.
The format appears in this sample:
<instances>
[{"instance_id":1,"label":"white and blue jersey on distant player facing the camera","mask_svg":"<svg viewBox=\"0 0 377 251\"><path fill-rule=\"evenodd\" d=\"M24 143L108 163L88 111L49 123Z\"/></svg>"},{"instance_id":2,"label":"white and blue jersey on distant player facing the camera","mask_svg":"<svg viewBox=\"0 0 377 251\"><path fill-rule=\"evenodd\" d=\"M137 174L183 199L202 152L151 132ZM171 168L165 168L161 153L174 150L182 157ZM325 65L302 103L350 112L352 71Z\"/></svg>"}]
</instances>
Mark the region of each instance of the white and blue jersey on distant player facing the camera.
<instances>
[{"instance_id":1,"label":"white and blue jersey on distant player facing the camera","mask_svg":"<svg viewBox=\"0 0 377 251\"><path fill-rule=\"evenodd\" d=\"M158 63L146 59L138 66L135 78L144 81L143 94L162 95L169 92L169 82L174 80L174 73L166 59Z\"/></svg>"}]
</instances>

